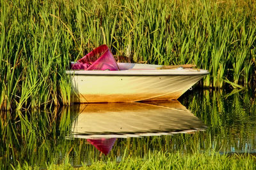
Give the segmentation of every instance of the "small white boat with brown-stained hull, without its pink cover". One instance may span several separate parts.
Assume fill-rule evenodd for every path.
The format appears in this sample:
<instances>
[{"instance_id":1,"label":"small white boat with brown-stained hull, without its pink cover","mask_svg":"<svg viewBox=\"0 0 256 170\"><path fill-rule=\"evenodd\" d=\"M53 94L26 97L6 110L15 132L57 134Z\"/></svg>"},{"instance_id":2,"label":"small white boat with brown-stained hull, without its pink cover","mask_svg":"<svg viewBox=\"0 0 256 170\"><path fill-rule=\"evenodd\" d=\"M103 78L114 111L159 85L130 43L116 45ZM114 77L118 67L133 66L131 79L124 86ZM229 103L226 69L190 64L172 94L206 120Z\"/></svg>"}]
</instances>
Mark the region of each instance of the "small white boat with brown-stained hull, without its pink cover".
<instances>
[{"instance_id":1,"label":"small white boat with brown-stained hull, without its pink cover","mask_svg":"<svg viewBox=\"0 0 256 170\"><path fill-rule=\"evenodd\" d=\"M74 103L126 103L178 99L209 71L161 69L152 64L118 63L120 71L66 71Z\"/></svg>"}]
</instances>

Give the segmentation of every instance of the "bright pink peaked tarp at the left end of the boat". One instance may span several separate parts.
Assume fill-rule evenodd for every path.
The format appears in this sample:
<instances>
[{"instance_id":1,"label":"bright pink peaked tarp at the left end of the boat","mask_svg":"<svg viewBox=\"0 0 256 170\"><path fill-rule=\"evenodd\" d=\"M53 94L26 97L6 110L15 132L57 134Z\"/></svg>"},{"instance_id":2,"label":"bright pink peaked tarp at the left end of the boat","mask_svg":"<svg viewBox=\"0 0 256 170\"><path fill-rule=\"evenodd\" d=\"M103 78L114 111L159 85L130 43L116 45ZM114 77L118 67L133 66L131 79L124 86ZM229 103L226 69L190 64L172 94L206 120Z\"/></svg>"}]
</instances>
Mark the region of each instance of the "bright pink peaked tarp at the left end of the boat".
<instances>
[{"instance_id":1,"label":"bright pink peaked tarp at the left end of the boat","mask_svg":"<svg viewBox=\"0 0 256 170\"><path fill-rule=\"evenodd\" d=\"M92 52L86 54L76 63L71 64L71 69L84 70L119 70L113 54L109 51L107 45L101 45Z\"/></svg>"}]
</instances>

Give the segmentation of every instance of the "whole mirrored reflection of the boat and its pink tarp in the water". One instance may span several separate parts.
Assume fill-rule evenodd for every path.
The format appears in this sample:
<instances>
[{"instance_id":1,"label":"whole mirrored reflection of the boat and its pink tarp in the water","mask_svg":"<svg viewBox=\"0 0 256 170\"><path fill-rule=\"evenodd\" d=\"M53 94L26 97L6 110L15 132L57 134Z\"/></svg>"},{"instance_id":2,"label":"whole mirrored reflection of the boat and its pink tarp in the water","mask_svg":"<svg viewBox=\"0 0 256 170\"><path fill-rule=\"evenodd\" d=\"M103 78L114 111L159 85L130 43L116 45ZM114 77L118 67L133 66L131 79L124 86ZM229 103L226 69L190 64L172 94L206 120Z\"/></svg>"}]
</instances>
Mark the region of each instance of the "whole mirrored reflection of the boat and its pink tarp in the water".
<instances>
[{"instance_id":1,"label":"whole mirrored reflection of the boat and its pink tarp in the water","mask_svg":"<svg viewBox=\"0 0 256 170\"><path fill-rule=\"evenodd\" d=\"M72 137L85 138L107 155L116 138L204 131L205 125L179 101L82 104Z\"/></svg>"}]
</instances>

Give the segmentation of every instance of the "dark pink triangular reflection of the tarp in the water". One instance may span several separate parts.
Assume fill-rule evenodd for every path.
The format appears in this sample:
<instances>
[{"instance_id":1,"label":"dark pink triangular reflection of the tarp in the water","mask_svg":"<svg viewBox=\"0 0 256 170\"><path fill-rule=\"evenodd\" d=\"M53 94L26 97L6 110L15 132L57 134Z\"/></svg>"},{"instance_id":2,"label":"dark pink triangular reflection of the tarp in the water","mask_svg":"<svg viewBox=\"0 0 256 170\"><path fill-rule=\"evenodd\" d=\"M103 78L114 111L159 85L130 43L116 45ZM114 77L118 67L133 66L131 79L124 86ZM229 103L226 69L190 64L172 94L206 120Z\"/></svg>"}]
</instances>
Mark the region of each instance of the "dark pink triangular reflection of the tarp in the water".
<instances>
[{"instance_id":1,"label":"dark pink triangular reflection of the tarp in the water","mask_svg":"<svg viewBox=\"0 0 256 170\"><path fill-rule=\"evenodd\" d=\"M115 144L116 138L87 139L87 141L95 146L100 152L108 155Z\"/></svg>"}]
</instances>

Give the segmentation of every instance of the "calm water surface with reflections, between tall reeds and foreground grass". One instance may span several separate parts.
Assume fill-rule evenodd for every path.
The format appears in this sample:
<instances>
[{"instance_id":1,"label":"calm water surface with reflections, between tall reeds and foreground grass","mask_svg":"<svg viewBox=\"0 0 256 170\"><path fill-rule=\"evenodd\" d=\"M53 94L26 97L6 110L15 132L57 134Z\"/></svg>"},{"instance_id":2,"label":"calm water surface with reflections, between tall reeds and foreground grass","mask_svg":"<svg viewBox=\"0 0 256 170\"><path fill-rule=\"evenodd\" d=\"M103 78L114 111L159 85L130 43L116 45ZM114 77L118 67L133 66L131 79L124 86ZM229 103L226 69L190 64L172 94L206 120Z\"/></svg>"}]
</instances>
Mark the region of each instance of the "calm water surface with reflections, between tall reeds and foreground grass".
<instances>
[{"instance_id":1,"label":"calm water surface with reflections, between tall reeds and foreground grass","mask_svg":"<svg viewBox=\"0 0 256 170\"><path fill-rule=\"evenodd\" d=\"M255 92L192 90L179 101L83 104L1 112L0 167L143 157L256 153Z\"/></svg>"}]
</instances>

